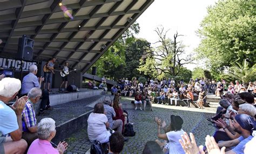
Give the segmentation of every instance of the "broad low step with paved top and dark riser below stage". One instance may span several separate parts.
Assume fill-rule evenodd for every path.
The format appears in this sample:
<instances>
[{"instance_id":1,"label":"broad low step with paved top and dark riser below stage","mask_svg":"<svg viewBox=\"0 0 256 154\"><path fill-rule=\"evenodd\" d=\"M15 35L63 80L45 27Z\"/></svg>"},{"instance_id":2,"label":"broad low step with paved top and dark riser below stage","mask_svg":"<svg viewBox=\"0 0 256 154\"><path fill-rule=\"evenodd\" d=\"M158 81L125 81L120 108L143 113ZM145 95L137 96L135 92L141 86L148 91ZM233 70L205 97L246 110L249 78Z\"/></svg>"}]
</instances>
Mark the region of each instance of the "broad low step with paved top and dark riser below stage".
<instances>
[{"instance_id":1,"label":"broad low step with paved top and dark riser below stage","mask_svg":"<svg viewBox=\"0 0 256 154\"><path fill-rule=\"evenodd\" d=\"M37 116L39 122L42 118L51 117L56 121L56 136L52 142L58 144L74 132L87 126L87 118L93 111L96 103L102 102L104 95L92 95L82 100L57 104L53 110L48 110L49 115Z\"/></svg>"}]
</instances>

